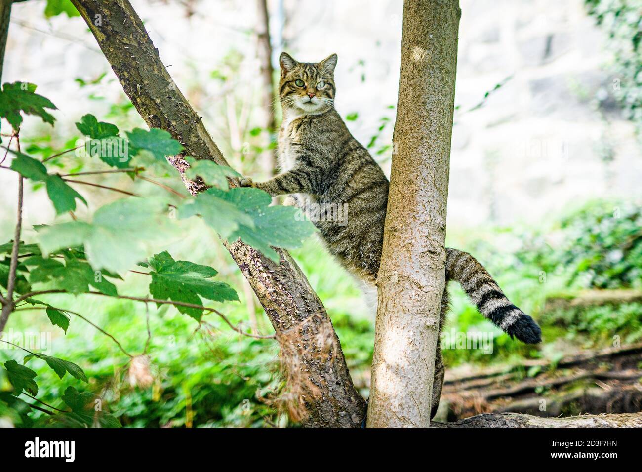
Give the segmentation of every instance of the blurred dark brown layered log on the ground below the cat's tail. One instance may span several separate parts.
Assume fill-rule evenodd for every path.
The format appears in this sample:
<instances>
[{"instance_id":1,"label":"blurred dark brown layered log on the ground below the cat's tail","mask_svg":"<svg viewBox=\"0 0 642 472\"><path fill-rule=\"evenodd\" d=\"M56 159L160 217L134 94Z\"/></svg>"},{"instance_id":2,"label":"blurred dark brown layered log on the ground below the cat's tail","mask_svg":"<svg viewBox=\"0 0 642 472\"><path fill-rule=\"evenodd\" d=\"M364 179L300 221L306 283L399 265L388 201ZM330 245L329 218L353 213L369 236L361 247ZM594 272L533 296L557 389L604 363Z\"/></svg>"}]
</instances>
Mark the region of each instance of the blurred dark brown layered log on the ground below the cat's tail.
<instances>
[{"instance_id":1,"label":"blurred dark brown layered log on the ground below the cat's tail","mask_svg":"<svg viewBox=\"0 0 642 472\"><path fill-rule=\"evenodd\" d=\"M538 417L642 410L642 344L586 351L551 363L532 360L444 381L437 419L517 412ZM539 371L526 369L541 367Z\"/></svg>"}]
</instances>

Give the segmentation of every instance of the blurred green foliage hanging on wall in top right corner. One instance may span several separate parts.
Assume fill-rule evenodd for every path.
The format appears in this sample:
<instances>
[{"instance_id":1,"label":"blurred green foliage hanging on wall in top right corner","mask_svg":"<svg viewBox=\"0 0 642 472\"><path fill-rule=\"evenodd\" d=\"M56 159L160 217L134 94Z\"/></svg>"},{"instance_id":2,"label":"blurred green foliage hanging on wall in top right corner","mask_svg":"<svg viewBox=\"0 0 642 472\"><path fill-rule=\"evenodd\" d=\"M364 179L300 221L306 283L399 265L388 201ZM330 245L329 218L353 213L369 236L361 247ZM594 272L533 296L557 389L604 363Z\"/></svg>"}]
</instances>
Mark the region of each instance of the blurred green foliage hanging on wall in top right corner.
<instances>
[{"instance_id":1,"label":"blurred green foliage hanging on wall in top right corner","mask_svg":"<svg viewBox=\"0 0 642 472\"><path fill-rule=\"evenodd\" d=\"M609 35L613 53L614 94L642 132L642 2L585 0L589 15Z\"/></svg>"}]
</instances>

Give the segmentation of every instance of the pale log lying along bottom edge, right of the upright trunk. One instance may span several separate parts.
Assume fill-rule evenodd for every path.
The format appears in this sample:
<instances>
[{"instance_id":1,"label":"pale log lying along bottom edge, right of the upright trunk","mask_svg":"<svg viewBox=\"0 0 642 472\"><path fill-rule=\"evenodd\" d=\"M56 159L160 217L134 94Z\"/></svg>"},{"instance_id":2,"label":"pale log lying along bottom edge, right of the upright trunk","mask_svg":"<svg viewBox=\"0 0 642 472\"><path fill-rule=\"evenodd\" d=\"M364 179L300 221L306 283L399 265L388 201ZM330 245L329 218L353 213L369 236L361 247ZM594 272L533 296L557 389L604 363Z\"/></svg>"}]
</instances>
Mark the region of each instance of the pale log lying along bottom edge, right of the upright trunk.
<instances>
[{"instance_id":1,"label":"pale log lying along bottom edge, right of the upright trunk","mask_svg":"<svg viewBox=\"0 0 642 472\"><path fill-rule=\"evenodd\" d=\"M642 428L642 412L540 418L516 413L476 415L432 428Z\"/></svg>"}]
</instances>

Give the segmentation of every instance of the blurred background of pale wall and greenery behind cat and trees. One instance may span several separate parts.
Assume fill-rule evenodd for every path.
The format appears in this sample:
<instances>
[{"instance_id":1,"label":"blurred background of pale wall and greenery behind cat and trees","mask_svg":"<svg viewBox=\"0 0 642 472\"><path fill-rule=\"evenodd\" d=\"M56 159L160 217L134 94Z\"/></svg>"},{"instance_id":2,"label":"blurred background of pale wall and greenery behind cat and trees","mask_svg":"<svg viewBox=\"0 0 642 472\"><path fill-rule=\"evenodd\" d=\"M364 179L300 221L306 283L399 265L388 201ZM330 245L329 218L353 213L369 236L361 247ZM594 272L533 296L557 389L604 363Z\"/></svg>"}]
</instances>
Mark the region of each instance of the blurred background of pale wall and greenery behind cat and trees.
<instances>
[{"instance_id":1,"label":"blurred background of pale wall and greenery behind cat and trees","mask_svg":"<svg viewBox=\"0 0 642 472\"><path fill-rule=\"evenodd\" d=\"M243 175L260 180L275 171L280 110L273 106L273 83L281 51L304 62L338 54L336 109L389 171L401 0L380 0L376 6L365 0L132 4L175 83ZM55 128L25 119L23 150L41 157L64 150L78 137L74 123L85 113L124 129L146 128L82 19L66 12L51 15L47 5L30 0L12 10L3 82L36 83L58 107ZM510 340L453 286L447 330L492 333L494 349L446 349L448 378L459 390L468 384L456 382L480 369L510 371L509 382L537 380L541 388L531 389L534 398L557 405L557 410L540 409L544 415L603 412L607 404L612 410L639 410L637 378L575 379L573 367L564 371L558 364L580 349L601 353L642 338L642 1L461 0L460 6L447 243L472 252L490 269L508 296L540 322L544 344ZM60 167L91 170L90 163L73 156ZM180 187L175 175L160 177ZM126 177L101 181L156 191ZM15 224L13 175L0 172L0 186L5 242ZM114 198L93 192L89 207ZM24 240L33 240L31 225L54 219L44 189L28 191ZM217 268L241 295L241 304L225 306L230 318L271 333L216 234L198 222L182 231L169 249L173 256ZM327 307L354 382L367 397L374 310L314 238L295 257ZM145 281L136 274L125 283L132 294L145 293ZM83 296L51 295L51 300L84 313L132 353L143 352L149 328L154 381L141 388L125 381L126 356L82 321L73 320L66 336L51 331L42 312L24 311L10 322L13 329L51 331L53 355L82 365L91 389L107 399L124 425L290 424L273 401L283 385L271 340L241 337L214 318L209 328L196 331L196 322L173 308ZM641 368L641 360L629 354L607 371ZM0 351L3 360L20 355ZM39 374L59 385L46 392L55 403L67 383L46 369ZM448 388L442 418L507 405L533 409L533 398L482 398L476 391L462 401ZM626 394L615 398L614 392Z\"/></svg>"}]
</instances>

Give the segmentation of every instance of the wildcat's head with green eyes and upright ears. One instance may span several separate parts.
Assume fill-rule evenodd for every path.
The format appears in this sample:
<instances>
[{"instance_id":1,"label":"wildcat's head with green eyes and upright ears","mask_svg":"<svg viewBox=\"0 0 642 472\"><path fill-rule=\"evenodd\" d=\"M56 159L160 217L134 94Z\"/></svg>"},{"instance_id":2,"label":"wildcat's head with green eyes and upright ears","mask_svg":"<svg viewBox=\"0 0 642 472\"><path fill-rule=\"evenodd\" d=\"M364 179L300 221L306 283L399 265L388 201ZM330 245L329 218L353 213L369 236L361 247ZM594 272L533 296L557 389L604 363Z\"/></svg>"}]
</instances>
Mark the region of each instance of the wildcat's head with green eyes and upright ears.
<instances>
[{"instance_id":1,"label":"wildcat's head with green eyes and upright ears","mask_svg":"<svg viewBox=\"0 0 642 472\"><path fill-rule=\"evenodd\" d=\"M334 107L334 67L336 54L321 62L297 62L288 53L281 53L279 99L284 109L320 113Z\"/></svg>"}]
</instances>

